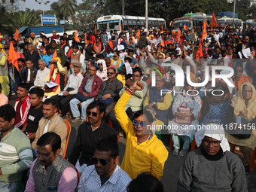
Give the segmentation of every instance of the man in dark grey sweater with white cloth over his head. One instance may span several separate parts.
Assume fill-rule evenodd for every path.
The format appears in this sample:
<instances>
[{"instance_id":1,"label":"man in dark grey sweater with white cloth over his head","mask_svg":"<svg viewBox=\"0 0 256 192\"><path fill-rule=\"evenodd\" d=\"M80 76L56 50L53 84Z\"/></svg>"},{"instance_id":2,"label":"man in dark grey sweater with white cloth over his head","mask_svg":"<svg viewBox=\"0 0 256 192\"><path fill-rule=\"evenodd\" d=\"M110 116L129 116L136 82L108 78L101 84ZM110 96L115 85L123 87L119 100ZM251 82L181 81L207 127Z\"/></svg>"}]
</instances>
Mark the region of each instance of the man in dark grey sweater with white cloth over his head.
<instances>
[{"instance_id":1,"label":"man in dark grey sweater with white cloth over his head","mask_svg":"<svg viewBox=\"0 0 256 192\"><path fill-rule=\"evenodd\" d=\"M178 191L247 191L245 168L230 152L224 128L206 125L196 133L197 145L187 154L178 178Z\"/></svg>"}]
</instances>

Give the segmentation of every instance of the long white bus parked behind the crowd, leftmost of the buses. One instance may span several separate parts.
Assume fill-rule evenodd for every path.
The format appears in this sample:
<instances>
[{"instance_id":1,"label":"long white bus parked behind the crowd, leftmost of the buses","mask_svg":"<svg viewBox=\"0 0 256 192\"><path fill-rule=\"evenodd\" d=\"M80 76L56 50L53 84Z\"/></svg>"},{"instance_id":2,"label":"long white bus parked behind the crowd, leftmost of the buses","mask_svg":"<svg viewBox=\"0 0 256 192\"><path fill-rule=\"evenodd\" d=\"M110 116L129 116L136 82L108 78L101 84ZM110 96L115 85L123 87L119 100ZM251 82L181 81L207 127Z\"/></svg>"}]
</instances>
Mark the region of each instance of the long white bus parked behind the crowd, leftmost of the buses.
<instances>
[{"instance_id":1,"label":"long white bus parked behind the crowd, leftmost of the buses","mask_svg":"<svg viewBox=\"0 0 256 192\"><path fill-rule=\"evenodd\" d=\"M128 15L106 15L97 19L97 29L106 29L106 32L117 30L143 29L145 28L145 17ZM166 29L166 20L162 18L148 17L148 29Z\"/></svg>"}]
</instances>

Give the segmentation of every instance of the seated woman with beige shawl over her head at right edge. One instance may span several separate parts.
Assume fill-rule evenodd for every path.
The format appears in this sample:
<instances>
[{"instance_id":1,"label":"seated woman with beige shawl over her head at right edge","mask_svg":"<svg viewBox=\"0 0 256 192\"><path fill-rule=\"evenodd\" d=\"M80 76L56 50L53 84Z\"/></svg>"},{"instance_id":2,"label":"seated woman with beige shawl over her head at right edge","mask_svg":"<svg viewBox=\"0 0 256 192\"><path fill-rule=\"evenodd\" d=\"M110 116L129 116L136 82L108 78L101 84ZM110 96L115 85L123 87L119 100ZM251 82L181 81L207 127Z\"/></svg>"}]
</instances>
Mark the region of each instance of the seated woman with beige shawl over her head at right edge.
<instances>
[{"instance_id":1,"label":"seated woman with beige shawl over her head at right edge","mask_svg":"<svg viewBox=\"0 0 256 192\"><path fill-rule=\"evenodd\" d=\"M250 83L242 84L236 97L232 99L230 113L230 125L233 128L247 127L252 129L251 135L241 136L234 132L232 136L226 133L226 138L230 143L230 151L240 151L242 153L242 163L245 166L245 172L248 174L248 167L254 148L256 147L256 90ZM236 123L236 124L234 124ZM242 130L239 128L239 130Z\"/></svg>"}]
</instances>

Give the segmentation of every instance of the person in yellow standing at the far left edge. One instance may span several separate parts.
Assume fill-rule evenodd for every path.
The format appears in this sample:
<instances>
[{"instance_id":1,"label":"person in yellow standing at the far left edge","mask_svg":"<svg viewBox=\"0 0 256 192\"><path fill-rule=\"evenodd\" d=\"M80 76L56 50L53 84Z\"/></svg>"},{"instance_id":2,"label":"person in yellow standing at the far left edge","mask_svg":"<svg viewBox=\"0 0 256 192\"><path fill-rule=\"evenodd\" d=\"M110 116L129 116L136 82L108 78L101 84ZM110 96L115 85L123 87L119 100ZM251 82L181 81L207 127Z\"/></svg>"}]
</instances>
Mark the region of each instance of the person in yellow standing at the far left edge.
<instances>
[{"instance_id":1,"label":"person in yellow standing at the far left edge","mask_svg":"<svg viewBox=\"0 0 256 192\"><path fill-rule=\"evenodd\" d=\"M0 84L2 85L2 93L5 96L9 95L9 77L8 77L8 66L7 66L7 54L5 53L4 47L0 44Z\"/></svg>"}]
</instances>

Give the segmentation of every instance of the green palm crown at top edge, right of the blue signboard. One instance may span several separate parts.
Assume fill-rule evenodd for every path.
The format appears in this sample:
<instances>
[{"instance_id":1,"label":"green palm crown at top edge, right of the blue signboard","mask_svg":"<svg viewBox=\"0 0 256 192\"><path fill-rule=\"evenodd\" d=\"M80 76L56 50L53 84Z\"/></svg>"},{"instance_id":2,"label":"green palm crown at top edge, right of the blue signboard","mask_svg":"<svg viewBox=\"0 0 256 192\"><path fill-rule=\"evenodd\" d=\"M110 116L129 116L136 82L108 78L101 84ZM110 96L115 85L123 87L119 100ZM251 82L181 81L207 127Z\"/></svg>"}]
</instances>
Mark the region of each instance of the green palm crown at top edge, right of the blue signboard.
<instances>
[{"instance_id":1,"label":"green palm crown at top edge, right of the blue signboard","mask_svg":"<svg viewBox=\"0 0 256 192\"><path fill-rule=\"evenodd\" d=\"M75 8L78 7L76 3L76 0L59 0L59 11L63 16L63 20L65 20L70 15L73 16L75 14Z\"/></svg>"}]
</instances>

